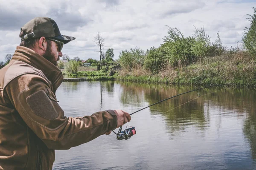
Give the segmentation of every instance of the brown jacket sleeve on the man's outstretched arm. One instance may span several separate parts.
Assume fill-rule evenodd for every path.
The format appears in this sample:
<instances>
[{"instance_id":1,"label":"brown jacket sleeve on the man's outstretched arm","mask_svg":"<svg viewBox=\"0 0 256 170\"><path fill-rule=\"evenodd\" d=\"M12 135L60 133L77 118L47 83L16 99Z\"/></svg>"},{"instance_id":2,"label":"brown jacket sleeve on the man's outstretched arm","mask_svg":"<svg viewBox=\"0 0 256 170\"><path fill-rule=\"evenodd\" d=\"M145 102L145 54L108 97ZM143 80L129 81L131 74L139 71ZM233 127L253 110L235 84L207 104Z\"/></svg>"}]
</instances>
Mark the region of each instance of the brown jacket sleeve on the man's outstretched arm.
<instances>
[{"instance_id":1,"label":"brown jacket sleeve on the man's outstretched arm","mask_svg":"<svg viewBox=\"0 0 256 170\"><path fill-rule=\"evenodd\" d=\"M49 149L69 149L113 130L117 125L112 110L91 116L64 116L46 80L35 74L13 79L6 92L15 110Z\"/></svg>"}]
</instances>

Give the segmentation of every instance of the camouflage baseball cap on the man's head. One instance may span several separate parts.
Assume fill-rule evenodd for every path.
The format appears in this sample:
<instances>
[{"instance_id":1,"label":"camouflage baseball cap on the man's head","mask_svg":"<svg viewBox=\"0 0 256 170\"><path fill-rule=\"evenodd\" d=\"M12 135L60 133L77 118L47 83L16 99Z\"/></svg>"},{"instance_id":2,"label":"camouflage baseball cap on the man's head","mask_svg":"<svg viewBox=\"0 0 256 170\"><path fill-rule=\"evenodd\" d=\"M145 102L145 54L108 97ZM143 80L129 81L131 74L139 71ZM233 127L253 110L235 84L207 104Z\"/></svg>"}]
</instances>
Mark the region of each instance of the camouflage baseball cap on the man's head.
<instances>
[{"instance_id":1,"label":"camouflage baseball cap on the man's head","mask_svg":"<svg viewBox=\"0 0 256 170\"><path fill-rule=\"evenodd\" d=\"M76 39L75 37L61 35L57 23L48 17L35 17L20 28L20 31L23 31L26 34L23 37L20 37L21 41L46 37L67 44L68 42Z\"/></svg>"}]
</instances>

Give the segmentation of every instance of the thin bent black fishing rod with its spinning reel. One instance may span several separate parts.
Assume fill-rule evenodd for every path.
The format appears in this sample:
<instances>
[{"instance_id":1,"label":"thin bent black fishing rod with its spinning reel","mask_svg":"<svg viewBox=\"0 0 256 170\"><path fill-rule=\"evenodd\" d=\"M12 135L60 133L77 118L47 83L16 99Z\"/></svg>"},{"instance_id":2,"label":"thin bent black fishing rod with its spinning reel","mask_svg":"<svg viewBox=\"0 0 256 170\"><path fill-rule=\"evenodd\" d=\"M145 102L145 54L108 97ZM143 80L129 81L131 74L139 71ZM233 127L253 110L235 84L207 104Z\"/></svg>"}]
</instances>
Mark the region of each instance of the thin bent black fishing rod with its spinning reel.
<instances>
[{"instance_id":1,"label":"thin bent black fishing rod with its spinning reel","mask_svg":"<svg viewBox=\"0 0 256 170\"><path fill-rule=\"evenodd\" d=\"M161 100L161 101L159 101L159 102L156 102L156 103L154 103L154 104L152 104L152 105L149 105L149 106L147 106L147 107L145 107L145 108L149 108L149 107L151 107L151 106L153 106L153 105L156 105L156 104L158 104L158 103L160 103L160 102L163 102L163 101L166 101L166 100L172 99L172 98L174 98L174 97L181 96L181 95L183 95L183 94L187 94L187 93L190 93L190 92L193 92L193 91L197 91L197 93L198 93L198 90L201 90L201 89L204 89L204 88L211 88L211 87L224 86L224 85L243 85L243 86L251 86L251 87L254 87L254 88L255 88L255 86L253 86L253 85L238 84L238 83L226 83L226 84L220 84L220 85L210 85L210 86L207 86L207 87L202 87L202 88L194 89L194 90L187 91L187 92L184 92L184 93L181 93L181 94L177 94L177 95L175 95L175 96L169 97L169 98L167 98L167 99L163 99L163 100ZM201 94L198 93L197 96L200 97ZM131 113L130 115L133 115L134 113L137 113L137 112L139 112L139 111L142 111L142 110L144 110L145 108L142 108L142 109L140 109L140 110L138 110L138 111L135 111L135 112ZM127 125L127 126L128 126L128 125ZM127 128L127 126L126 126L126 128ZM130 126L130 125L129 125L129 126ZM113 130L112 130L112 131L113 131ZM117 139L117 140L122 140L122 139L127 140L127 139L130 139L131 136L133 136L133 135L136 134L136 130L135 130L135 127L132 127L132 126L130 126L130 128L127 128L127 129L125 129L125 130L122 130L122 126L121 126L121 127L119 128L119 130L118 130L117 133L116 133L115 131L113 131L113 133L116 134L116 139Z\"/></svg>"}]
</instances>

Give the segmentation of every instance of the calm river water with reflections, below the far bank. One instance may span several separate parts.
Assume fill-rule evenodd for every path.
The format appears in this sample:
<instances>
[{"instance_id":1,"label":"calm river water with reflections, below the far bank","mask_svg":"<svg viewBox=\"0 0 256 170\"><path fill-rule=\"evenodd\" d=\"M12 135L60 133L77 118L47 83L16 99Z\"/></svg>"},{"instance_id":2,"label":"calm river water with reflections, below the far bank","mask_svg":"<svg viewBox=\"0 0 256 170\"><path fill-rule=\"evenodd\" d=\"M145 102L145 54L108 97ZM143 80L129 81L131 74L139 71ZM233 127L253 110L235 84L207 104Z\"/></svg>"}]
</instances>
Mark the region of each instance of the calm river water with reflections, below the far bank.
<instances>
[{"instance_id":1,"label":"calm river water with reflections, below the far bank","mask_svg":"<svg viewBox=\"0 0 256 170\"><path fill-rule=\"evenodd\" d=\"M79 117L108 109L133 113L194 88L63 82L56 96L65 116ZM131 139L119 141L111 133L70 150L56 150L53 169L256 169L256 92L215 87L198 93L201 97L194 91L133 114L128 124L137 133Z\"/></svg>"}]
</instances>

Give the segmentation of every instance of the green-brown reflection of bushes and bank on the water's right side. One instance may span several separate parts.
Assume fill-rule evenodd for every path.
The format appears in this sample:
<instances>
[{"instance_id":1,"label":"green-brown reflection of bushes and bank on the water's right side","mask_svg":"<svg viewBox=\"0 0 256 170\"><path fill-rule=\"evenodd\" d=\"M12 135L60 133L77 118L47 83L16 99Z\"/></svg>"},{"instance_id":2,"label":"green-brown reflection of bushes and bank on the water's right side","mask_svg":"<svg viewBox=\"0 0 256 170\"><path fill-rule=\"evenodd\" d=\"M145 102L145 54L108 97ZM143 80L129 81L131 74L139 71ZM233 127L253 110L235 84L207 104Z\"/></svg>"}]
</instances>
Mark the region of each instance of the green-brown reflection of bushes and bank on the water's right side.
<instances>
[{"instance_id":1,"label":"green-brown reflection of bushes and bank on the water's right side","mask_svg":"<svg viewBox=\"0 0 256 170\"><path fill-rule=\"evenodd\" d=\"M123 104L147 102L148 105L194 89L130 82L121 83L121 87L124 88L121 97ZM237 119L243 119L246 112L243 132L250 143L252 158L256 161L256 107L253 105L253 101L256 101L256 92L247 88L214 87L202 89L198 93L201 97L197 97L197 92L191 92L154 105L150 108L150 113L165 117L167 131L172 135L184 132L185 128L190 128L189 125L193 125L198 132L204 134L210 123L210 108L218 107L221 110L217 116L216 130L220 136L222 110L225 111L224 114L233 114Z\"/></svg>"}]
</instances>

